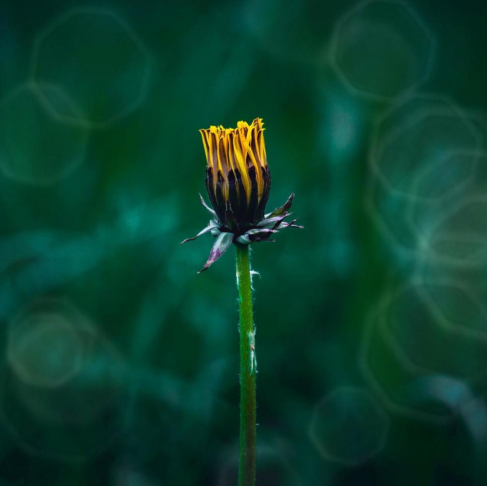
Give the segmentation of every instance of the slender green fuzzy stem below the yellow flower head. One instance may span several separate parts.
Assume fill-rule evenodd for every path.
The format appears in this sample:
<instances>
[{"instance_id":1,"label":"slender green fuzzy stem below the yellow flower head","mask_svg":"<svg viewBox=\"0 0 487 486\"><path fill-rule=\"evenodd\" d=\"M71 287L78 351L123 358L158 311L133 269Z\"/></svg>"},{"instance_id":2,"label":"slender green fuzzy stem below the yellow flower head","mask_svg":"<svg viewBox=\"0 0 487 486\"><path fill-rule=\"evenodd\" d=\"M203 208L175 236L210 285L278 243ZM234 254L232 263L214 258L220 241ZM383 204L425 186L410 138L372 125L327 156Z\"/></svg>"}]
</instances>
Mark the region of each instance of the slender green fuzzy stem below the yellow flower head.
<instances>
[{"instance_id":1,"label":"slender green fuzzy stem below the yellow flower head","mask_svg":"<svg viewBox=\"0 0 487 486\"><path fill-rule=\"evenodd\" d=\"M255 327L249 245L236 245L238 307L240 312L240 452L238 486L255 485L256 399Z\"/></svg>"}]
</instances>

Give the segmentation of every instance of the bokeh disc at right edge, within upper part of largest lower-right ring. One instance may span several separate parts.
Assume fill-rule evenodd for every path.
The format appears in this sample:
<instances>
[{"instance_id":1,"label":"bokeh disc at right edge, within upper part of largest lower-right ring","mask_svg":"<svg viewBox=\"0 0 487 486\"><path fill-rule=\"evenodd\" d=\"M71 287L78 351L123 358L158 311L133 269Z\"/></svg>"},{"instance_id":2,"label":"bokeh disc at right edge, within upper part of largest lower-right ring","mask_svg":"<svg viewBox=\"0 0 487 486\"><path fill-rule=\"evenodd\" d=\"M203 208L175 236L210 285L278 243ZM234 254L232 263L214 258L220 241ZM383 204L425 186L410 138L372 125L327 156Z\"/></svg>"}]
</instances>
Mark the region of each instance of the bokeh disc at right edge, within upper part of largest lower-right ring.
<instances>
[{"instance_id":1,"label":"bokeh disc at right edge, within upper part of largest lower-right ring","mask_svg":"<svg viewBox=\"0 0 487 486\"><path fill-rule=\"evenodd\" d=\"M383 326L395 351L415 366L462 379L475 379L487 369L487 313L455 285L405 289L389 304Z\"/></svg>"}]
</instances>

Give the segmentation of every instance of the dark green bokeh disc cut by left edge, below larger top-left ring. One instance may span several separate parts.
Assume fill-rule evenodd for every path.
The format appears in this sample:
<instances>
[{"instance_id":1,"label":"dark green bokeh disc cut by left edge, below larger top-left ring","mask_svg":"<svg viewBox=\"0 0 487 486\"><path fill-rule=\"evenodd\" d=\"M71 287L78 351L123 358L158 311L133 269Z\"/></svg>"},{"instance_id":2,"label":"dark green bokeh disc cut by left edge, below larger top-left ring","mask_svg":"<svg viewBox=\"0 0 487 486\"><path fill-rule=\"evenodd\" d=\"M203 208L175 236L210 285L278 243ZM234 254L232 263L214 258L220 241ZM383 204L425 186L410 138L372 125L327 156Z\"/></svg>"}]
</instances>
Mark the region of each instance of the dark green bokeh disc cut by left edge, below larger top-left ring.
<instances>
[{"instance_id":1,"label":"dark green bokeh disc cut by left edge, below larger top-left ring","mask_svg":"<svg viewBox=\"0 0 487 486\"><path fill-rule=\"evenodd\" d=\"M13 181L49 185L84 161L88 132L60 120L58 112L73 117L82 114L59 86L42 86L57 113L46 106L39 89L25 84L0 102L0 171Z\"/></svg>"}]
</instances>

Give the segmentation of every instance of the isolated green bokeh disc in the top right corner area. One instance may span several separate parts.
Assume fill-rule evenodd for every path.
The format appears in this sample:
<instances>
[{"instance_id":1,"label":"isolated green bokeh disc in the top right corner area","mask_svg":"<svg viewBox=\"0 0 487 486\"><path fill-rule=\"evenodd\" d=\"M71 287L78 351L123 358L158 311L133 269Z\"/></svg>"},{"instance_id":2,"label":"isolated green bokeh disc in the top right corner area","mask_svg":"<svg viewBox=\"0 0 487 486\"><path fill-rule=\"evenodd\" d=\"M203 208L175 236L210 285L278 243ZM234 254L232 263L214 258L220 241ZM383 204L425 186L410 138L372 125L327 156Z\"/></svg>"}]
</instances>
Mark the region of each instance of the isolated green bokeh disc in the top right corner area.
<instances>
[{"instance_id":1,"label":"isolated green bokeh disc in the top right corner area","mask_svg":"<svg viewBox=\"0 0 487 486\"><path fill-rule=\"evenodd\" d=\"M388 100L429 74L434 38L408 3L367 1L337 23L331 63L354 93Z\"/></svg>"}]
</instances>

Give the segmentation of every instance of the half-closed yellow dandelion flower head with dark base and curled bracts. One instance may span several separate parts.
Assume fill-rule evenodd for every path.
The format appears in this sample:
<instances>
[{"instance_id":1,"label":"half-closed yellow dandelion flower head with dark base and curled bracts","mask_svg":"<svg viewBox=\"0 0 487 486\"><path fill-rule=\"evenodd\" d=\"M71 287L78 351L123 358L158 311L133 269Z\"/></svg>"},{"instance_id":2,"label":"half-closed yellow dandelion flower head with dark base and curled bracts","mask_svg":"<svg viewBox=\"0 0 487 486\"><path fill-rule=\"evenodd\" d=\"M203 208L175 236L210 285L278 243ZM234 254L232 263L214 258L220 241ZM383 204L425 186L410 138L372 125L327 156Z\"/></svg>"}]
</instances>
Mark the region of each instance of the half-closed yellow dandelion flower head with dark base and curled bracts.
<instances>
[{"instance_id":1,"label":"half-closed yellow dandelion flower head with dark base and curled bracts","mask_svg":"<svg viewBox=\"0 0 487 486\"><path fill-rule=\"evenodd\" d=\"M200 130L207 156L206 187L211 209L201 201L213 219L196 237L211 232L216 242L209 259L200 272L206 270L230 246L270 240L273 233L295 221L284 222L289 216L294 194L272 213L265 214L271 189L271 171L267 165L264 143L264 123L256 118L250 125L238 122L237 128L210 126ZM199 272L199 273L200 273Z\"/></svg>"}]
</instances>

